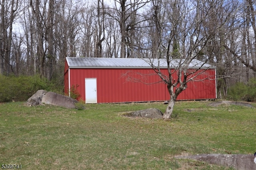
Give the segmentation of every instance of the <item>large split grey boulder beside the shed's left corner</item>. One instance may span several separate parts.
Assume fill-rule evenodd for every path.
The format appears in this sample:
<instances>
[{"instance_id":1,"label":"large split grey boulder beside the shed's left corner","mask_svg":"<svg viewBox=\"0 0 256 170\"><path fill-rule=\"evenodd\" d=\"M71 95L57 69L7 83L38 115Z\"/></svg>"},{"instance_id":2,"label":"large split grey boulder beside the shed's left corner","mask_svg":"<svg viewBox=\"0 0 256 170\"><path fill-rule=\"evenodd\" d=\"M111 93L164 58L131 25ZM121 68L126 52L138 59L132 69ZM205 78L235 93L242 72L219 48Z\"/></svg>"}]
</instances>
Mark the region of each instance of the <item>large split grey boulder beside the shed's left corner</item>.
<instances>
[{"instance_id":1,"label":"large split grey boulder beside the shed's left corner","mask_svg":"<svg viewBox=\"0 0 256 170\"><path fill-rule=\"evenodd\" d=\"M73 109L76 108L75 104L78 103L78 101L71 97L45 90L38 90L27 101L28 105L40 105L41 103Z\"/></svg>"}]
</instances>

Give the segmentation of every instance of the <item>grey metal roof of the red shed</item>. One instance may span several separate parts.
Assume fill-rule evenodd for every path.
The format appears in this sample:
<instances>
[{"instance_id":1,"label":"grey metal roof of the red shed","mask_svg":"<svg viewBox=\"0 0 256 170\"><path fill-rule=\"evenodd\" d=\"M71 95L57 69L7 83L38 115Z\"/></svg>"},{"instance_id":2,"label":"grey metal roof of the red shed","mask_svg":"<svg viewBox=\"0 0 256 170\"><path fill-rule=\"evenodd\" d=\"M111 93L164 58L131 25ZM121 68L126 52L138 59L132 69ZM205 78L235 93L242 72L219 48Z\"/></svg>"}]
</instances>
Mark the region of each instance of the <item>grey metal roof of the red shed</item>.
<instances>
[{"instance_id":1,"label":"grey metal roof of the red shed","mask_svg":"<svg viewBox=\"0 0 256 170\"><path fill-rule=\"evenodd\" d=\"M69 68L152 68L151 63L157 66L158 60L160 68L167 68L166 59L66 57ZM179 62L180 59L172 59L170 67L177 67ZM193 59L188 68L215 69L216 67Z\"/></svg>"}]
</instances>

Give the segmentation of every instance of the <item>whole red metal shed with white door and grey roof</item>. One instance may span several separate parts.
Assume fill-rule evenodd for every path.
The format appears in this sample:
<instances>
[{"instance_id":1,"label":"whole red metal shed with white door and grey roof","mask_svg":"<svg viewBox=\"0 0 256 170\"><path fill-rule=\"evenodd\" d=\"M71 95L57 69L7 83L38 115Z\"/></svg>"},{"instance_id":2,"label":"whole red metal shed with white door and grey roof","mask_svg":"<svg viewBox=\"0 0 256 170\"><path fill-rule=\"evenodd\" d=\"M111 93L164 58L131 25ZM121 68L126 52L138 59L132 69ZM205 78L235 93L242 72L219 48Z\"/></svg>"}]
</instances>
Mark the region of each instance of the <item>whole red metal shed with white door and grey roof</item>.
<instances>
[{"instance_id":1,"label":"whole red metal shed with white door and grey roof","mask_svg":"<svg viewBox=\"0 0 256 170\"><path fill-rule=\"evenodd\" d=\"M168 75L166 59L160 70ZM178 60L177 60L178 61ZM178 63L173 60L175 68ZM189 69L200 68L202 74L188 83L177 100L216 99L216 67L193 60ZM174 69L175 71L175 69ZM200 70L199 70L200 71ZM174 77L175 78L175 77ZM64 91L76 90L85 103L122 103L169 101L166 84L152 69L149 60L139 58L66 57Z\"/></svg>"}]
</instances>

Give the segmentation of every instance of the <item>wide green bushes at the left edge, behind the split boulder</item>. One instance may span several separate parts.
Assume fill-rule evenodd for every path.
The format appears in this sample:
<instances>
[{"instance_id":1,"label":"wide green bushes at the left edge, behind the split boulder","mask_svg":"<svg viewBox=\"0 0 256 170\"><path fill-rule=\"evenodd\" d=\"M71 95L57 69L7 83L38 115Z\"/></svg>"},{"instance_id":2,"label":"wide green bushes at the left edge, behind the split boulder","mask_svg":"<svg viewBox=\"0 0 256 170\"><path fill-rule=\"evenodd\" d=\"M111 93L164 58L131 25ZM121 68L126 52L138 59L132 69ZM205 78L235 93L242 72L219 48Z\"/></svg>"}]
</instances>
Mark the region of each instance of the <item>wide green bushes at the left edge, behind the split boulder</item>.
<instances>
[{"instance_id":1,"label":"wide green bushes at the left edge, behind the split boulder","mask_svg":"<svg viewBox=\"0 0 256 170\"><path fill-rule=\"evenodd\" d=\"M0 102L26 101L36 91L52 91L56 86L40 76L3 76L0 75ZM63 88L63 87L61 87Z\"/></svg>"}]
</instances>

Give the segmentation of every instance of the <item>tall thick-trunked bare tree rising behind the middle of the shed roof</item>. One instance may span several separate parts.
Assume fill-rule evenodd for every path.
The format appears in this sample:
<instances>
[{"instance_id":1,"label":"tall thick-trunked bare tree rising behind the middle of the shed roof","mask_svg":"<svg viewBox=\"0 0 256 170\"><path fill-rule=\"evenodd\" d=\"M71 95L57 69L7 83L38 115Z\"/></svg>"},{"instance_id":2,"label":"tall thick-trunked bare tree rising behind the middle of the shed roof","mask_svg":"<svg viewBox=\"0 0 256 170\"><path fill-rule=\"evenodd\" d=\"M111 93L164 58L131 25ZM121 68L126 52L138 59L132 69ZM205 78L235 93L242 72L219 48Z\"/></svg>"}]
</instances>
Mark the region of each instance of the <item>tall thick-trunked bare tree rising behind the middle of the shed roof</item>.
<instances>
[{"instance_id":1,"label":"tall thick-trunked bare tree rising behind the middle of the shed roof","mask_svg":"<svg viewBox=\"0 0 256 170\"><path fill-rule=\"evenodd\" d=\"M114 0L114 8L110 8L116 11L116 15L106 12L108 16L112 19L116 20L120 27L121 33L121 49L120 49L120 57L126 58L131 57L130 52L133 49L130 49L130 43L132 42L131 37L128 35L130 32L132 35L132 31L136 28L136 25L142 21L136 20L136 15L138 15L138 11L142 9L149 1L146 0ZM128 56L128 55L129 56Z\"/></svg>"}]
</instances>

